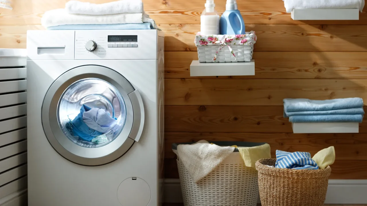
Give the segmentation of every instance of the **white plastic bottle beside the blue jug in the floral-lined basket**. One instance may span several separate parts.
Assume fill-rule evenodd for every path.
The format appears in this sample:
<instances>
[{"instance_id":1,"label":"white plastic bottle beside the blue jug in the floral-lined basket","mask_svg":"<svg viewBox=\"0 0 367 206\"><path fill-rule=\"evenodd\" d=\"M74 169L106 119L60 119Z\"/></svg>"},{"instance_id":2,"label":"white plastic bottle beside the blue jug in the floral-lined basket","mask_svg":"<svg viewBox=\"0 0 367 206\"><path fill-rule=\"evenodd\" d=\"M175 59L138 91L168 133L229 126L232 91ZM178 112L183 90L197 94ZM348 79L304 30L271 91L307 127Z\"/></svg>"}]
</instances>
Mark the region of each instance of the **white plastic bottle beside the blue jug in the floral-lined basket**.
<instances>
[{"instance_id":1,"label":"white plastic bottle beside the blue jug in the floral-lined basket","mask_svg":"<svg viewBox=\"0 0 367 206\"><path fill-rule=\"evenodd\" d=\"M214 7L214 0L207 0L205 9L200 16L201 35L219 34L219 14L214 10Z\"/></svg>"}]
</instances>

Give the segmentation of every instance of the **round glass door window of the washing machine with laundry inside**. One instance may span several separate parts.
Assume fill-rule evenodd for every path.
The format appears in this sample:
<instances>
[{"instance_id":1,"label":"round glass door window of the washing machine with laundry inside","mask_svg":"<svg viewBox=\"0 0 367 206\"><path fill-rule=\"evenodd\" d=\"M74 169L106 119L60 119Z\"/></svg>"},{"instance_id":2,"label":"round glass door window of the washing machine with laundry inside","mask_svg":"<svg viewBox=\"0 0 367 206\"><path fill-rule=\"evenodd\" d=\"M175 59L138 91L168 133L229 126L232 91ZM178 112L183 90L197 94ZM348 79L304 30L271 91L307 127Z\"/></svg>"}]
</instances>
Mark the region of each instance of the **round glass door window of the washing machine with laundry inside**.
<instances>
[{"instance_id":1,"label":"round glass door window of the washing machine with laundry inside","mask_svg":"<svg viewBox=\"0 0 367 206\"><path fill-rule=\"evenodd\" d=\"M109 82L85 78L70 85L59 100L58 121L63 133L82 147L101 147L124 128L126 106Z\"/></svg>"}]
</instances>

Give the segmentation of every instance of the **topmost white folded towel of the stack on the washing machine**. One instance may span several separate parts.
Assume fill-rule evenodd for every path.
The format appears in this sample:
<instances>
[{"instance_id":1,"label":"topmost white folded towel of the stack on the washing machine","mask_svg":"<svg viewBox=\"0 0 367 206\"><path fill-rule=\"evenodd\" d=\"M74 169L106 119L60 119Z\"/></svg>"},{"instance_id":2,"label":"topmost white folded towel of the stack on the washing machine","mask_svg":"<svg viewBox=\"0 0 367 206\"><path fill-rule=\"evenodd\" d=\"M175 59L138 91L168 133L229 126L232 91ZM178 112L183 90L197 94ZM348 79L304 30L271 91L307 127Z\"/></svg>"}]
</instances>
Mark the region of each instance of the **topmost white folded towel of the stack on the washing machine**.
<instances>
[{"instance_id":1,"label":"topmost white folded towel of the stack on the washing machine","mask_svg":"<svg viewBox=\"0 0 367 206\"><path fill-rule=\"evenodd\" d=\"M109 15L143 13L141 0L120 0L104 4L92 4L80 1L68 1L65 10L69 14Z\"/></svg>"}]
</instances>

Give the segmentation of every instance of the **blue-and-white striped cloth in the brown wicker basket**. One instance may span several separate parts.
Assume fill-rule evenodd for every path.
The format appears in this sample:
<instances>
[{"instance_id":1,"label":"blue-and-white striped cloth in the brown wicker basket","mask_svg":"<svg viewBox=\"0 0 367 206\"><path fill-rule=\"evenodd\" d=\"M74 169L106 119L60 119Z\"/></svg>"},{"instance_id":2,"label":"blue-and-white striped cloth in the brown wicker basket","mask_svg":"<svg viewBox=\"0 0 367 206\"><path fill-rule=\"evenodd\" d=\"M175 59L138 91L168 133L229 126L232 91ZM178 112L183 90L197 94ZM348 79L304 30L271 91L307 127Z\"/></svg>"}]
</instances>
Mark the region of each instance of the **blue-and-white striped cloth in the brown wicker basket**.
<instances>
[{"instance_id":1,"label":"blue-and-white striped cloth in the brown wicker basket","mask_svg":"<svg viewBox=\"0 0 367 206\"><path fill-rule=\"evenodd\" d=\"M309 152L276 151L276 168L283 169L319 169Z\"/></svg>"}]
</instances>

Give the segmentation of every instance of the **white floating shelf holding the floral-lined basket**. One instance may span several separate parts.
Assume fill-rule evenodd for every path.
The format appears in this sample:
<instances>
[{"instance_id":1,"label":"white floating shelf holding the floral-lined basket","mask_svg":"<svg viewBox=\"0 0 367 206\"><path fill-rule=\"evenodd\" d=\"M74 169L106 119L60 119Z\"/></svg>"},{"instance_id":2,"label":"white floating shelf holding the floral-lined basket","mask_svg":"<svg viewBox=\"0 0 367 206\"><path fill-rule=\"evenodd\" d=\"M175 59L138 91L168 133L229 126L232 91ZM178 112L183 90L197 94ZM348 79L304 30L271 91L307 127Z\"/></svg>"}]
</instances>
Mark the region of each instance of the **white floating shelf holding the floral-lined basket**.
<instances>
[{"instance_id":1,"label":"white floating shelf holding the floral-lined basket","mask_svg":"<svg viewBox=\"0 0 367 206\"><path fill-rule=\"evenodd\" d=\"M255 60L251 62L204 63L193 60L190 65L190 76L250 76L255 75Z\"/></svg>"}]
</instances>

